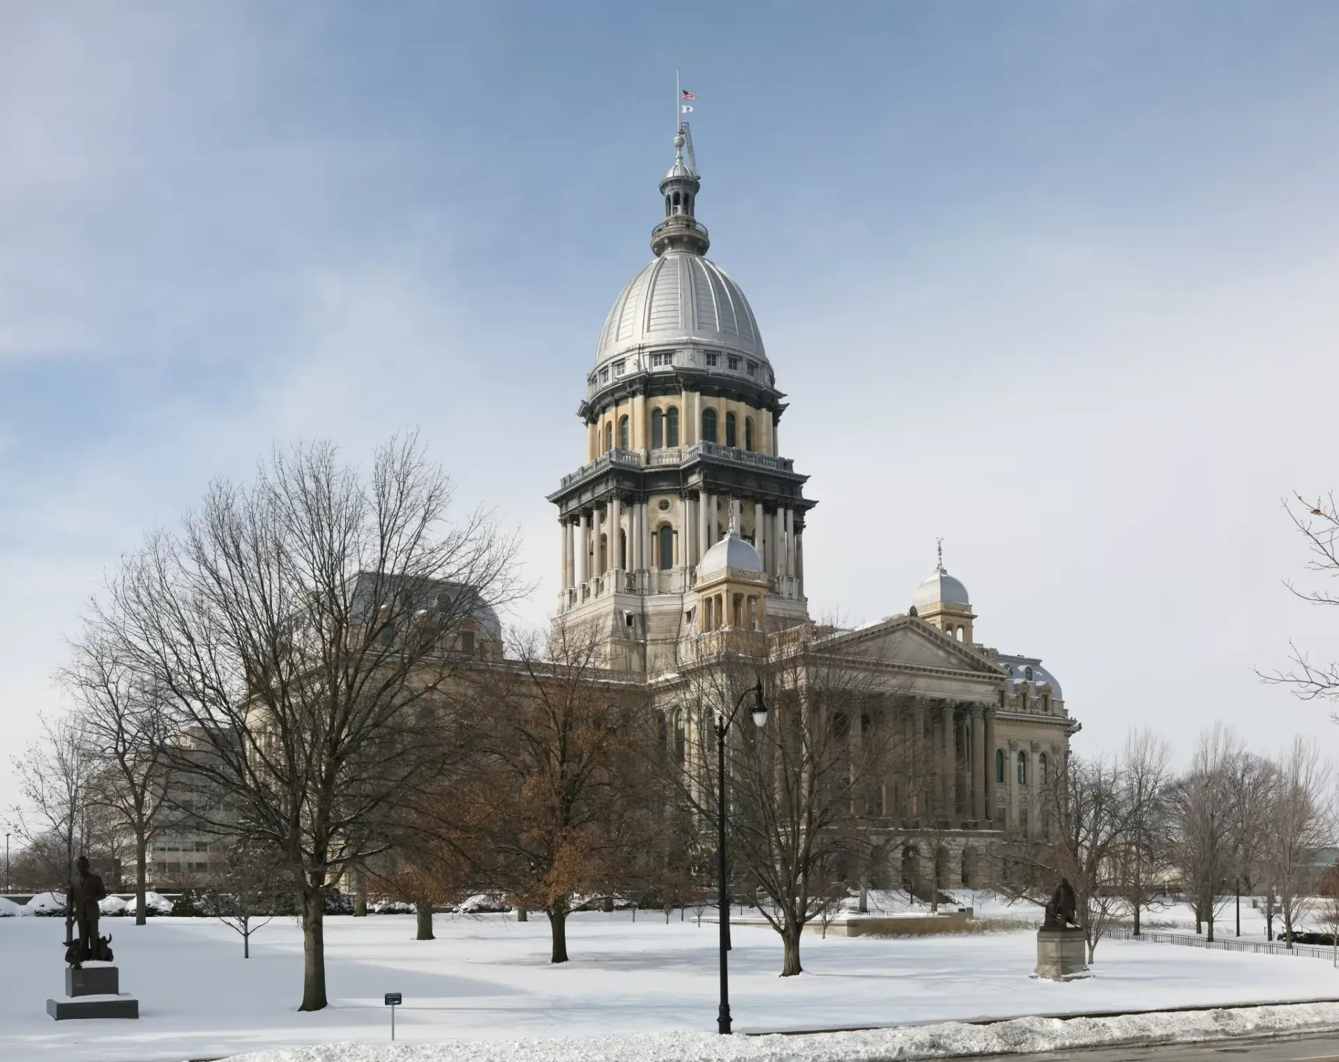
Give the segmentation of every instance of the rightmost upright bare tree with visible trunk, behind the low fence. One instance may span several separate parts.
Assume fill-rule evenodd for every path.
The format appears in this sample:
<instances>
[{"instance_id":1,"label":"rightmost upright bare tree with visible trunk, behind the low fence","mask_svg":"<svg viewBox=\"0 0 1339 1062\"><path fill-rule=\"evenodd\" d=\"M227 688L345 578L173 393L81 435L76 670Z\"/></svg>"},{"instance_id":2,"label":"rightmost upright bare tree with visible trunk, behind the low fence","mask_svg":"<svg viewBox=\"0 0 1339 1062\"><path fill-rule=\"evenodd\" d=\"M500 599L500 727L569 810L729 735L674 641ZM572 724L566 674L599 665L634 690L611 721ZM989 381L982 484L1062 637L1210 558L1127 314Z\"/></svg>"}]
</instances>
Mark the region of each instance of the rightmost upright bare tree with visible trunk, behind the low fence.
<instances>
[{"instance_id":1,"label":"rightmost upright bare tree with visible trunk, behind the low fence","mask_svg":"<svg viewBox=\"0 0 1339 1062\"><path fill-rule=\"evenodd\" d=\"M1315 741L1297 737L1276 764L1276 781L1265 813L1264 859L1279 897L1283 932L1292 932L1312 903L1316 857L1334 837L1326 808L1331 769Z\"/></svg>"}]
</instances>

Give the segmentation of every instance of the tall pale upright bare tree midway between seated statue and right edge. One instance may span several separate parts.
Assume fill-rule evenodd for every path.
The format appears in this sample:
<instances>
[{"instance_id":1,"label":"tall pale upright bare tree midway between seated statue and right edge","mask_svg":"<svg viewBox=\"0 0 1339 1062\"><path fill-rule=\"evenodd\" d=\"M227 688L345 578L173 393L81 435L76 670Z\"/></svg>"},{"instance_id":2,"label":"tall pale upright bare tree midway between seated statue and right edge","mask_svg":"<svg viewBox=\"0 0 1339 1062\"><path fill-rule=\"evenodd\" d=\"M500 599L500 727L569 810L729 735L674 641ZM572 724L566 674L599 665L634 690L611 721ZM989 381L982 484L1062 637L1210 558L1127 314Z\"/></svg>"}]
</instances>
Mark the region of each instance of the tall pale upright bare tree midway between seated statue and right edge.
<instances>
[{"instance_id":1,"label":"tall pale upright bare tree midway between seated statue and right edge","mask_svg":"<svg viewBox=\"0 0 1339 1062\"><path fill-rule=\"evenodd\" d=\"M1196 931L1214 920L1236 873L1237 811L1235 778L1244 754L1241 740L1223 724L1200 736L1189 772L1170 790L1173 835L1182 888L1196 916Z\"/></svg>"}]
</instances>

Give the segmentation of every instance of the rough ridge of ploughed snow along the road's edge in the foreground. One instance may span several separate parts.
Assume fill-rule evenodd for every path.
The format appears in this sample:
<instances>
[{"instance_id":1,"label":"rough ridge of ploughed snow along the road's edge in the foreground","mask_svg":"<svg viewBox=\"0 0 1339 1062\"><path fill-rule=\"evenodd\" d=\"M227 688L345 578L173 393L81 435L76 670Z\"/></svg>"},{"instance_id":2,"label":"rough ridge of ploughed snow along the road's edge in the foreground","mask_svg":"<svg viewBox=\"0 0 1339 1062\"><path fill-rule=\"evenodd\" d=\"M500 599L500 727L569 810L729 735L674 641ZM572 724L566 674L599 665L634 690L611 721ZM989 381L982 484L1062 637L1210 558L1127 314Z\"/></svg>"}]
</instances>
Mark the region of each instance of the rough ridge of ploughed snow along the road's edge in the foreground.
<instances>
[{"instance_id":1,"label":"rough ridge of ploughed snow along the road's edge in the foreground","mask_svg":"<svg viewBox=\"0 0 1339 1062\"><path fill-rule=\"evenodd\" d=\"M957 1055L1189 1043L1339 1029L1339 1004L1194 1010L1117 1018L1018 1018L995 1025L874 1029L864 1033L719 1037L651 1033L569 1039L454 1043L324 1043L233 1055L225 1062L915 1062Z\"/></svg>"}]
</instances>

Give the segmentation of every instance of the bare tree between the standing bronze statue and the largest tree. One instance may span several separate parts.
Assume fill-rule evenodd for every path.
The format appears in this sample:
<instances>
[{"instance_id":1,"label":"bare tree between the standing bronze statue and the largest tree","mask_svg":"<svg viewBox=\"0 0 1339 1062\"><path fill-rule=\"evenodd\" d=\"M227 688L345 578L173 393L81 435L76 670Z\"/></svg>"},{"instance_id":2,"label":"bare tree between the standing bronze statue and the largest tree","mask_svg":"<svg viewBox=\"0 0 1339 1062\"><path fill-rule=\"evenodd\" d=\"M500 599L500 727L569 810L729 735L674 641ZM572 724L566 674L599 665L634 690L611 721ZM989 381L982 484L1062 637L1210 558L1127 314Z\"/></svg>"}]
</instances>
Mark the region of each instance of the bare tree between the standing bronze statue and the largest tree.
<instances>
[{"instance_id":1,"label":"bare tree between the standing bronze statue and the largest tree","mask_svg":"<svg viewBox=\"0 0 1339 1062\"><path fill-rule=\"evenodd\" d=\"M130 832L135 851L135 924L143 926L149 844L163 811L169 720L162 697L115 651L96 626L86 627L59 674L75 698L75 726L91 768L87 796Z\"/></svg>"}]
</instances>

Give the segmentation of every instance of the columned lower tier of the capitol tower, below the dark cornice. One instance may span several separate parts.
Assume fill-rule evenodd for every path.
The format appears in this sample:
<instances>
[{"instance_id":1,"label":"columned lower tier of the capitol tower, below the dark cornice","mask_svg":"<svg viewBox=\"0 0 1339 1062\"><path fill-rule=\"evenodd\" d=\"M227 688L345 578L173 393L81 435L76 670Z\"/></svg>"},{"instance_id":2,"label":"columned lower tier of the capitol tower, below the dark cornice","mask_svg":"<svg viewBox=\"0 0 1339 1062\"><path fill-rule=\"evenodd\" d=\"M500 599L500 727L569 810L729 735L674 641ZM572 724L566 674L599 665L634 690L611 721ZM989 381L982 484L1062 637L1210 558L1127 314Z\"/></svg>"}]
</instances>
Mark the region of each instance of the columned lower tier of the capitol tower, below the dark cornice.
<instances>
[{"instance_id":1,"label":"columned lower tier of the capitol tower, below the dark cornice","mask_svg":"<svg viewBox=\"0 0 1339 1062\"><path fill-rule=\"evenodd\" d=\"M793 595L803 597L803 535L795 522L795 510L767 510L762 500L746 503L704 490L682 496L678 512L653 514L649 502L624 502L615 495L604 506L596 504L576 518L560 520L562 589L569 590L616 568L694 568L727 534L731 519L736 531L743 527L746 504L753 508L754 548L762 558L763 571L777 580L778 589L790 589ZM674 548L668 563L655 542L660 527L667 524L672 530Z\"/></svg>"}]
</instances>

